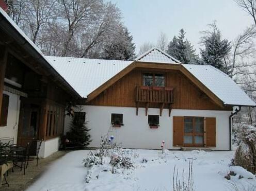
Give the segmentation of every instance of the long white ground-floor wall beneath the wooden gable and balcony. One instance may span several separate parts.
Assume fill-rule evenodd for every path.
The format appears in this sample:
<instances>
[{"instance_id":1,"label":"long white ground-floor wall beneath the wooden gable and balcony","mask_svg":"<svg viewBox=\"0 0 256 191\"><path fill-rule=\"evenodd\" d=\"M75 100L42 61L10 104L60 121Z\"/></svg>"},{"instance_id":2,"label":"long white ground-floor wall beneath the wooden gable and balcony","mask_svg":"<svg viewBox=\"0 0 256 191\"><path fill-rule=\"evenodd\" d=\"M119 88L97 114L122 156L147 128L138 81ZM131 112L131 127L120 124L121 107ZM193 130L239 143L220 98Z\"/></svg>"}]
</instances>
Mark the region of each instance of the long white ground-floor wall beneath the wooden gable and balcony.
<instances>
[{"instance_id":1,"label":"long white ground-floor wall beneath the wooden gable and balcony","mask_svg":"<svg viewBox=\"0 0 256 191\"><path fill-rule=\"evenodd\" d=\"M124 148L145 148L160 149L160 145L165 140L165 148L179 149L172 146L172 118L173 116L202 116L216 117L216 147L215 150L229 149L229 115L231 111L210 111L210 110L180 110L173 109L171 117L168 116L168 109L164 109L162 116L159 116L158 129L150 129L148 116L145 115L145 108L139 108L138 116L136 108L128 107L103 107L103 106L83 106L86 112L88 127L91 129L92 142L89 147L99 147L101 136L110 136L112 133L118 143L122 143ZM120 128L113 128L110 124L111 113L122 113L123 124ZM148 115L159 115L159 109L149 108ZM69 118L65 123L70 121ZM68 131L68 124L65 124L65 132Z\"/></svg>"}]
</instances>

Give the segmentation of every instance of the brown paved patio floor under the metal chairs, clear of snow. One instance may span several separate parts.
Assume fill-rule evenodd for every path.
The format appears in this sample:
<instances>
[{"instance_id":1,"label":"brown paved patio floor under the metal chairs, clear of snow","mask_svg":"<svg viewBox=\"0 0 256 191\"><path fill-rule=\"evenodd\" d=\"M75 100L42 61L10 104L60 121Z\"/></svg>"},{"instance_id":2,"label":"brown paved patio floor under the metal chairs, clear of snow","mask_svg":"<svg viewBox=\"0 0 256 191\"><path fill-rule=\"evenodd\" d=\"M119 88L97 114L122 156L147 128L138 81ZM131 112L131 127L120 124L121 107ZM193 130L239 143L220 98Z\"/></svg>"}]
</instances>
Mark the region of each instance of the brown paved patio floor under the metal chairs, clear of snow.
<instances>
[{"instance_id":1,"label":"brown paved patio floor under the metal chairs, clear of snow","mask_svg":"<svg viewBox=\"0 0 256 191\"><path fill-rule=\"evenodd\" d=\"M9 171L7 177L8 185L2 185L0 190L5 191L14 191L14 190L25 190L28 186L34 183L47 168L50 167L50 164L65 155L67 152L58 151L52 154L50 157L45 159L40 159L38 161L38 167L36 166L36 160L30 161L26 169L26 174L23 175L23 171L20 171L20 168L14 167L14 172ZM5 181L3 181L5 183Z\"/></svg>"}]
</instances>

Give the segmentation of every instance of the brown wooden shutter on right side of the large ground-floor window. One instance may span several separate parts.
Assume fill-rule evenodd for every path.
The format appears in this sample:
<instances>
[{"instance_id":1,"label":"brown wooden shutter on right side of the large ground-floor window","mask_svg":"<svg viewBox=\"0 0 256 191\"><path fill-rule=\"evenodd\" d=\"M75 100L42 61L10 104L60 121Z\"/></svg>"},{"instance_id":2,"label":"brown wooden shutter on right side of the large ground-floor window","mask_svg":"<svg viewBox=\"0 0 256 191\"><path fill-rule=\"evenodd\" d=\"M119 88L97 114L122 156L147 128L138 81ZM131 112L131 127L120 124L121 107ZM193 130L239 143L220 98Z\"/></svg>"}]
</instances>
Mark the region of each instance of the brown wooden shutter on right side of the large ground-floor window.
<instances>
[{"instance_id":1,"label":"brown wooden shutter on right side of the large ground-floor window","mask_svg":"<svg viewBox=\"0 0 256 191\"><path fill-rule=\"evenodd\" d=\"M205 145L206 147L216 147L216 118L205 118Z\"/></svg>"}]
</instances>

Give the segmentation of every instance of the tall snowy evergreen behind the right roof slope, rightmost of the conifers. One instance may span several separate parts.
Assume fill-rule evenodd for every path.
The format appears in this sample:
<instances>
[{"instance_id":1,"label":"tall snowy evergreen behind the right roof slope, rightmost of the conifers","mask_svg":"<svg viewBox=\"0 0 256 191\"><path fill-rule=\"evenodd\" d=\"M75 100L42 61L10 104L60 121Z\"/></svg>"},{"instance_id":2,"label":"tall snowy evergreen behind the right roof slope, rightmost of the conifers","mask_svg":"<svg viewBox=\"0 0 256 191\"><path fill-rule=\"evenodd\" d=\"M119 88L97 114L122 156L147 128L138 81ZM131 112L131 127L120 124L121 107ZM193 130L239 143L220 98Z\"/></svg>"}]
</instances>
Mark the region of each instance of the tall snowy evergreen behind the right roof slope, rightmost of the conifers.
<instances>
[{"instance_id":1,"label":"tall snowy evergreen behind the right roof slope, rightmost of the conifers","mask_svg":"<svg viewBox=\"0 0 256 191\"><path fill-rule=\"evenodd\" d=\"M229 68L225 58L231 50L230 42L227 39L221 39L220 31L215 23L210 26L213 28L213 31L204 32L205 36L201 40L204 45L204 49L200 48L202 61L228 74Z\"/></svg>"}]
</instances>

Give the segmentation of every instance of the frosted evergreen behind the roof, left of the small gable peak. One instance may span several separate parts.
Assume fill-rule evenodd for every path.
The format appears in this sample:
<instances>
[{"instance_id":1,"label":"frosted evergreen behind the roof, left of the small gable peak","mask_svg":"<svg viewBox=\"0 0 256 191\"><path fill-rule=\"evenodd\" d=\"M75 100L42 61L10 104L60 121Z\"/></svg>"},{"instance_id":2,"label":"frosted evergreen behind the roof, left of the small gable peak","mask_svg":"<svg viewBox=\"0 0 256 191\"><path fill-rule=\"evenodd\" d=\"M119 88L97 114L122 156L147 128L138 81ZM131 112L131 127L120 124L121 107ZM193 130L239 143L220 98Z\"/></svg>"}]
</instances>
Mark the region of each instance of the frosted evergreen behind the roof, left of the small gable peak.
<instances>
[{"instance_id":1,"label":"frosted evergreen behind the roof, left of the small gable peak","mask_svg":"<svg viewBox=\"0 0 256 191\"><path fill-rule=\"evenodd\" d=\"M104 48L107 60L131 60L135 58L133 36L127 28L121 27L114 41Z\"/></svg>"}]
</instances>

